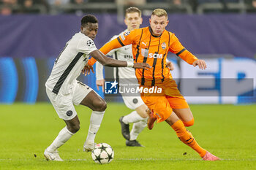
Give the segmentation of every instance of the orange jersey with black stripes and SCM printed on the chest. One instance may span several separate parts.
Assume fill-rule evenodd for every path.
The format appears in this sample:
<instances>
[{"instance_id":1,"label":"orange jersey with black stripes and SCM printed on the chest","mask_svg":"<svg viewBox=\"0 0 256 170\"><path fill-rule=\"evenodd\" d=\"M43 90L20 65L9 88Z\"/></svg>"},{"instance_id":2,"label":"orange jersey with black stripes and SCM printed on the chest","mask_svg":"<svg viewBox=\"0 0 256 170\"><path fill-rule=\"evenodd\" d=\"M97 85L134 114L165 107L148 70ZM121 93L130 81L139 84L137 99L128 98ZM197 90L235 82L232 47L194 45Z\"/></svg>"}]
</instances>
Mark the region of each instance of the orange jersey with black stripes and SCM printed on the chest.
<instances>
[{"instance_id":1,"label":"orange jersey with black stripes and SCM printed on the chest","mask_svg":"<svg viewBox=\"0 0 256 170\"><path fill-rule=\"evenodd\" d=\"M165 30L160 36L154 36L150 27L121 34L117 39L108 42L99 50L107 54L110 50L130 44L132 44L134 62L148 63L152 66L148 70L136 69L135 74L141 85L150 81L153 86L159 80L163 82L165 78L171 78L170 69L166 66L168 51L175 53L189 64L197 60L195 55L192 55L181 45L173 33ZM91 58L89 65L93 65L95 62L96 60Z\"/></svg>"}]
</instances>

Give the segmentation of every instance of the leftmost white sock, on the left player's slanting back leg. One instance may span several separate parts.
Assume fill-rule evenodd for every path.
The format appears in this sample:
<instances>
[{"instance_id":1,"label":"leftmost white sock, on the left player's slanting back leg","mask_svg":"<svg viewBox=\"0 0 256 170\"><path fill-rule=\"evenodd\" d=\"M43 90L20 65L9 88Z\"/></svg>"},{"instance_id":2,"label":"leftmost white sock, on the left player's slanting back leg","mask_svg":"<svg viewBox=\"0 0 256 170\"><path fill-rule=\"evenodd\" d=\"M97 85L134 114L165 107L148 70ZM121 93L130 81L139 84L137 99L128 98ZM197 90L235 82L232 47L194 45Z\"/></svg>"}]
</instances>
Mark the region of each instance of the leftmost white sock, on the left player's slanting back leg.
<instances>
[{"instance_id":1,"label":"leftmost white sock, on the left player's slanting back leg","mask_svg":"<svg viewBox=\"0 0 256 170\"><path fill-rule=\"evenodd\" d=\"M50 146L48 147L48 151L53 152L53 151L57 150L65 142L67 142L71 138L72 135L73 135L73 133L67 129L67 126L65 126L65 128L62 128L62 130L59 132L56 139L54 139L53 143L50 144Z\"/></svg>"}]
</instances>

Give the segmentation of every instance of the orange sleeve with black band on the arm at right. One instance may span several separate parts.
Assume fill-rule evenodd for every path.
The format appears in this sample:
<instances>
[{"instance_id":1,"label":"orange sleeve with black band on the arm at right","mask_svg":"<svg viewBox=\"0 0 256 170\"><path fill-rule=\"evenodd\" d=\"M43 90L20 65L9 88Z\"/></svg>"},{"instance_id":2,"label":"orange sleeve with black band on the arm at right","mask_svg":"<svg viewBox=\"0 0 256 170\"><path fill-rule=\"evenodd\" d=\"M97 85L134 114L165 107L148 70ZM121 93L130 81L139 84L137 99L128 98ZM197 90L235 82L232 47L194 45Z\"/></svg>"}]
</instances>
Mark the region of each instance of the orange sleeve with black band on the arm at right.
<instances>
[{"instance_id":1,"label":"orange sleeve with black band on the arm at right","mask_svg":"<svg viewBox=\"0 0 256 170\"><path fill-rule=\"evenodd\" d=\"M195 55L190 53L183 45L181 45L181 42L179 42L178 38L174 34L171 35L171 42L172 44L169 48L170 52L175 53L178 57L189 64L192 64L194 61L198 60Z\"/></svg>"}]
</instances>

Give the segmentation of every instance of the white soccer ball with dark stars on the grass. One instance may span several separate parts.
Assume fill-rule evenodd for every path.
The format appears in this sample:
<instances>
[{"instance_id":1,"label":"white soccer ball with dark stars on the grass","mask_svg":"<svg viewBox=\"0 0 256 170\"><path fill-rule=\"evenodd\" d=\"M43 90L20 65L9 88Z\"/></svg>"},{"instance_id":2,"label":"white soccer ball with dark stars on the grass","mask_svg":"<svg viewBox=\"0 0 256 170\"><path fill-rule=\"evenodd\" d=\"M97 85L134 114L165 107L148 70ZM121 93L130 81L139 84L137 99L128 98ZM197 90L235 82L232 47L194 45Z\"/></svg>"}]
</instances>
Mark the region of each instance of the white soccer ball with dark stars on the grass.
<instances>
[{"instance_id":1,"label":"white soccer ball with dark stars on the grass","mask_svg":"<svg viewBox=\"0 0 256 170\"><path fill-rule=\"evenodd\" d=\"M109 144L99 143L91 151L91 158L95 163L110 163L114 158L114 151Z\"/></svg>"}]
</instances>

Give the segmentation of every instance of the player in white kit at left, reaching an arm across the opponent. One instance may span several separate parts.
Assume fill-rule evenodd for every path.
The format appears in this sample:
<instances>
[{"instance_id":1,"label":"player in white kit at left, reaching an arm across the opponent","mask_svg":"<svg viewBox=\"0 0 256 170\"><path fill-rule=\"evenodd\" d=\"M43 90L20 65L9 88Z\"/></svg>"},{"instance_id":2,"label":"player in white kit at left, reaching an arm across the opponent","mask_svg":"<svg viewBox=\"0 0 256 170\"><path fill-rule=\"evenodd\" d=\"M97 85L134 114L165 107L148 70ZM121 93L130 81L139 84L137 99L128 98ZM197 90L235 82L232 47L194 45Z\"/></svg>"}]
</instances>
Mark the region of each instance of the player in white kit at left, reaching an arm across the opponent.
<instances>
[{"instance_id":1,"label":"player in white kit at left, reaching an arm across the opponent","mask_svg":"<svg viewBox=\"0 0 256 170\"><path fill-rule=\"evenodd\" d=\"M142 68L150 67L146 63L129 63L117 61L103 55L94 45L93 39L98 31L98 20L94 15L86 15L81 20L80 32L72 36L64 50L61 51L53 66L53 70L45 83L46 93L54 109L66 126L59 132L53 143L45 149L45 158L49 161L63 161L57 149L80 129L80 122L75 105L92 109L89 132L83 149L86 152L94 148L94 139L99 130L107 107L106 102L88 85L76 80L86 65L89 55L104 66L120 66Z\"/></svg>"}]
</instances>

